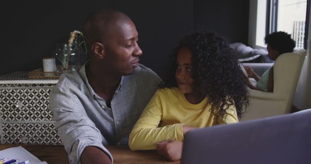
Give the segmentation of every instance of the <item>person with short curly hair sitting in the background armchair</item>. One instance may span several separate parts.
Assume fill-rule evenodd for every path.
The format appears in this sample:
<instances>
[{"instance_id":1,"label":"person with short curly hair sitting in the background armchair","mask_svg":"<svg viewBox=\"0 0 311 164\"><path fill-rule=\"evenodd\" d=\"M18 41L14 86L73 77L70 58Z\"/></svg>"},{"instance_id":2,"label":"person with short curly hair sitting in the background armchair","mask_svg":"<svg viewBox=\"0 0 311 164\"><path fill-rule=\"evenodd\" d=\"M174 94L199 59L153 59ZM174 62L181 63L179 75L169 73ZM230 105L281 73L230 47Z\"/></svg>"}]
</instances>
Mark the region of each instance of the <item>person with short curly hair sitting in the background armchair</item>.
<instances>
[{"instance_id":1,"label":"person with short curly hair sitting in the background armchair","mask_svg":"<svg viewBox=\"0 0 311 164\"><path fill-rule=\"evenodd\" d=\"M267 44L268 56L272 60L286 52L293 52L296 42L291 38L291 35L285 32L274 32L267 35L265 38ZM245 78L247 85L254 90L260 90L265 92L273 92L273 66L267 69L261 77L259 77L254 70L249 67L244 67L248 78L254 78L257 81L257 85L254 86L248 78Z\"/></svg>"}]
</instances>

